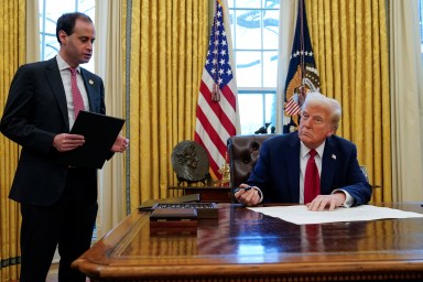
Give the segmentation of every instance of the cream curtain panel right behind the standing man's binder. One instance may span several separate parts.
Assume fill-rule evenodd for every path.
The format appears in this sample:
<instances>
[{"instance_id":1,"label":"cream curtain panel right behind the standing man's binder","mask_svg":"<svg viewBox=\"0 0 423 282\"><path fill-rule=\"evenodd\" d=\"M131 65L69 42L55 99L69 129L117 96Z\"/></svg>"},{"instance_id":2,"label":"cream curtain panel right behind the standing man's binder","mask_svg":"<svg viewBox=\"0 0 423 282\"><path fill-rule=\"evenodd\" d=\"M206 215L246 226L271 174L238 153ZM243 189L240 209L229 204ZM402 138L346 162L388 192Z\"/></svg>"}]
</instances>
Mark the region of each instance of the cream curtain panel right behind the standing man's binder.
<instances>
[{"instance_id":1,"label":"cream curtain panel right behind the standing man's binder","mask_svg":"<svg viewBox=\"0 0 423 282\"><path fill-rule=\"evenodd\" d=\"M96 74L104 78L107 115L124 117L124 91L122 85L122 0L96 1L95 43ZM126 135L124 129L121 132ZM124 208L124 158L127 152L116 153L98 172L97 238L105 236L126 216Z\"/></svg>"}]
</instances>

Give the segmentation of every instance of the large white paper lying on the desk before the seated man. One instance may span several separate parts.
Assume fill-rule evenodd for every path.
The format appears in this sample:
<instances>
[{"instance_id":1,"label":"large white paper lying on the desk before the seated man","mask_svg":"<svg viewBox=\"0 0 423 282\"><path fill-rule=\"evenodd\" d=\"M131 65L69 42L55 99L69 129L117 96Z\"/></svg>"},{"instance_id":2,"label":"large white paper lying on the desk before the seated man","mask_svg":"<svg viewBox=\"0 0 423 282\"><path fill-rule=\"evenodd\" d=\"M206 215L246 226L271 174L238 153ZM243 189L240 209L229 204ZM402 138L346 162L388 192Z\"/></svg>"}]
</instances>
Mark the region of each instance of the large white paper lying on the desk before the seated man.
<instances>
[{"instance_id":1,"label":"large white paper lying on the desk before the seated man","mask_svg":"<svg viewBox=\"0 0 423 282\"><path fill-rule=\"evenodd\" d=\"M350 208L340 207L333 212L311 212L305 205L249 207L249 209L267 216L278 217L296 225L423 217L423 214L371 205Z\"/></svg>"}]
</instances>

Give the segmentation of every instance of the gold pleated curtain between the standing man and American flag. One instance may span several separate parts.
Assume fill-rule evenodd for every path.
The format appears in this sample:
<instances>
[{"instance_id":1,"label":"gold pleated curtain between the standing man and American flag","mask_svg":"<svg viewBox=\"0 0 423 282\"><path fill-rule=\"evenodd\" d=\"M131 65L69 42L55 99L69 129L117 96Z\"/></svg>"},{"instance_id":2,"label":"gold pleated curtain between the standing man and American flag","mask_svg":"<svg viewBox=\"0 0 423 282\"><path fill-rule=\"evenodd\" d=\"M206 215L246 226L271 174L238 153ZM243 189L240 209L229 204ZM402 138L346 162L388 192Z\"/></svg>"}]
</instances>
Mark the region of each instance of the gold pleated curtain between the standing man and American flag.
<instances>
[{"instance_id":1,"label":"gold pleated curtain between the standing man and American flag","mask_svg":"<svg viewBox=\"0 0 423 282\"><path fill-rule=\"evenodd\" d=\"M123 42L130 40L123 55L130 124L127 174L133 212L147 199L167 196L167 186L176 183L173 148L193 140L209 7L208 0L130 3L126 1L123 8L123 21L131 24L123 31Z\"/></svg>"}]
</instances>

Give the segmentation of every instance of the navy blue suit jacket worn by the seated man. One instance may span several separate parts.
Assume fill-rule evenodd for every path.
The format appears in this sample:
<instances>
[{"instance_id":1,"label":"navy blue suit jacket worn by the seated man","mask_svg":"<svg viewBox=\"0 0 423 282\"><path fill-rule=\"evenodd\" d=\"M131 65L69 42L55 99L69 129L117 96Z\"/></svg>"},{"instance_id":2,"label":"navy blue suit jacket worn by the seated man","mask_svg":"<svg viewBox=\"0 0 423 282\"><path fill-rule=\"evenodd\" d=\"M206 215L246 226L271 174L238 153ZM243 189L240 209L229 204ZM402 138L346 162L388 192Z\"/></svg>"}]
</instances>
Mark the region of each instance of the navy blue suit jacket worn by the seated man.
<instances>
[{"instance_id":1,"label":"navy blue suit jacket worn by the seated man","mask_svg":"<svg viewBox=\"0 0 423 282\"><path fill-rule=\"evenodd\" d=\"M265 140L248 180L263 193L263 203L300 203L300 138L297 132ZM354 143L337 135L326 139L322 159L321 194L347 191L354 205L367 204L371 186L357 161Z\"/></svg>"}]
</instances>

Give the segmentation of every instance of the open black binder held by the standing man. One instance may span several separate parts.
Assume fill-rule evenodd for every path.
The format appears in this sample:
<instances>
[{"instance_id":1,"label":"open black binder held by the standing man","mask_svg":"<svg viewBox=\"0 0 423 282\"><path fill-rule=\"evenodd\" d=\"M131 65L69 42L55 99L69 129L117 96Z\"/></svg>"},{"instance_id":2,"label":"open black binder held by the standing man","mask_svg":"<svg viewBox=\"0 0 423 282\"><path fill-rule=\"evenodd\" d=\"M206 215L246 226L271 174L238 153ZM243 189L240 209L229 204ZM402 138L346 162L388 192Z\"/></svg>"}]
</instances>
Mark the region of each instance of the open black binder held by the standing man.
<instances>
[{"instance_id":1,"label":"open black binder held by the standing man","mask_svg":"<svg viewBox=\"0 0 423 282\"><path fill-rule=\"evenodd\" d=\"M59 162L77 167L101 169L123 123L123 119L79 111L70 133L84 135L85 144L63 153Z\"/></svg>"}]
</instances>

